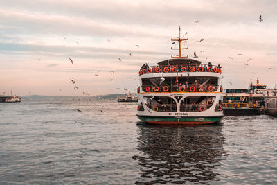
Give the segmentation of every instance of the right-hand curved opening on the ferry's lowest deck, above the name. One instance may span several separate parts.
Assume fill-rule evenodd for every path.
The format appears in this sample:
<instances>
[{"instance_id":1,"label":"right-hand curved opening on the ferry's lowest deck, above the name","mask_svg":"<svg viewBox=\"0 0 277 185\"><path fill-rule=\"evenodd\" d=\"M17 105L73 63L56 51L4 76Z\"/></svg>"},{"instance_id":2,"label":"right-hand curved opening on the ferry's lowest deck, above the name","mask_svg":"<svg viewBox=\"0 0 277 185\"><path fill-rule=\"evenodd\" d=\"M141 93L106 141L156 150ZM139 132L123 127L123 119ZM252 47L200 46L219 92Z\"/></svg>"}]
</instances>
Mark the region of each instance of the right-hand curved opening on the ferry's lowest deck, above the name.
<instances>
[{"instance_id":1,"label":"right-hand curved opening on the ferry's lowest deck, above the name","mask_svg":"<svg viewBox=\"0 0 277 185\"><path fill-rule=\"evenodd\" d=\"M215 102L215 96L188 96L181 100L181 112L200 112L209 109ZM204 108L202 108L204 107Z\"/></svg>"}]
</instances>

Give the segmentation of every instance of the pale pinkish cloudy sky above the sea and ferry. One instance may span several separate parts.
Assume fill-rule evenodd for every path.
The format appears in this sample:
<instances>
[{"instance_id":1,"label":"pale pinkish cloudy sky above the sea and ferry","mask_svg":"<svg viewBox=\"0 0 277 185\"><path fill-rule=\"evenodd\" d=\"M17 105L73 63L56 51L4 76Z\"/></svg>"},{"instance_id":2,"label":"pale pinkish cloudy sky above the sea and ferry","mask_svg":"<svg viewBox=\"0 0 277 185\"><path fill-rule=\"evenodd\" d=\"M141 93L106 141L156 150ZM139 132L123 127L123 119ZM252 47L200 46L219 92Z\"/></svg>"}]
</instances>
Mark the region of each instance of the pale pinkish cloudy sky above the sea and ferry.
<instances>
[{"instance_id":1,"label":"pale pinkish cloudy sky above the sea and ferry","mask_svg":"<svg viewBox=\"0 0 277 185\"><path fill-rule=\"evenodd\" d=\"M134 92L142 64L177 55L170 39L179 26L188 32L183 54L220 64L224 88L277 82L276 0L0 2L0 94Z\"/></svg>"}]
</instances>

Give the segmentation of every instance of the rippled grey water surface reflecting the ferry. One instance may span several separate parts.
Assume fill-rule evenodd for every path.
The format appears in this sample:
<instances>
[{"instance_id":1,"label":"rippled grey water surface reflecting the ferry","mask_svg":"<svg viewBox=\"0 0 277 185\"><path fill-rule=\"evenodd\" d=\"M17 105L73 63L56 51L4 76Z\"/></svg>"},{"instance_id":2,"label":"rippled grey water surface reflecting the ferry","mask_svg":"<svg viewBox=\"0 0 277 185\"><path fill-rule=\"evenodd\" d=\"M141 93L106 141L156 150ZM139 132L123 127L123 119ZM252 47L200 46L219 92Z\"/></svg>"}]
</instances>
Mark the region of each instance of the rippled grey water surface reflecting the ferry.
<instances>
[{"instance_id":1,"label":"rippled grey water surface reflecting the ferry","mask_svg":"<svg viewBox=\"0 0 277 185\"><path fill-rule=\"evenodd\" d=\"M114 100L1 103L0 115L0 184L277 184L270 116L154 126Z\"/></svg>"}]
</instances>

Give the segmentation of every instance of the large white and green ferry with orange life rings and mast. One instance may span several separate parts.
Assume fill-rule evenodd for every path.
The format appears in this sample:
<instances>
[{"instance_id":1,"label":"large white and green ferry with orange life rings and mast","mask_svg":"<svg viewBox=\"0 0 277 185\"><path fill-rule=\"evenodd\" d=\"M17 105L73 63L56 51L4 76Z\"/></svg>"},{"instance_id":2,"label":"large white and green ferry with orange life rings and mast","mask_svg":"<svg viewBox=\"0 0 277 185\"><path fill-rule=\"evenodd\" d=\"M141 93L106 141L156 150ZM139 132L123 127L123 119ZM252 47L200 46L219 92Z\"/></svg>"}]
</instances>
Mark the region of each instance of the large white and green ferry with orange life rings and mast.
<instances>
[{"instance_id":1,"label":"large white and green ferry with orange life rings and mast","mask_svg":"<svg viewBox=\"0 0 277 185\"><path fill-rule=\"evenodd\" d=\"M139 105L141 121L162 125L193 125L219 122L222 111L221 67L181 55L163 60L156 66L144 64L139 71ZM195 58L197 56L195 55Z\"/></svg>"}]
</instances>

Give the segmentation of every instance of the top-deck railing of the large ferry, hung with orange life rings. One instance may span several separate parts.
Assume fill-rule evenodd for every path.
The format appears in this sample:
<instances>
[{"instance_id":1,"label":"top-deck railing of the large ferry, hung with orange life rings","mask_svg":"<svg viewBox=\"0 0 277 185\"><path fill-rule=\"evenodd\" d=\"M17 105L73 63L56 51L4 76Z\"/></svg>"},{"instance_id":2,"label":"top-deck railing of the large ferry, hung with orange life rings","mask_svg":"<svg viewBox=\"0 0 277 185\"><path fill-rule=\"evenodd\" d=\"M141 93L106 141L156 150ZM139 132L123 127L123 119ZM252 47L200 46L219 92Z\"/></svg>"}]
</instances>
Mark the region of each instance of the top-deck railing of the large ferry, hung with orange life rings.
<instances>
[{"instance_id":1,"label":"top-deck railing of the large ferry, hung with orange life rings","mask_svg":"<svg viewBox=\"0 0 277 185\"><path fill-rule=\"evenodd\" d=\"M139 71L139 75L147 73L185 73L185 72L211 72L221 73L220 65L165 65L165 66L150 66L142 67Z\"/></svg>"}]
</instances>

